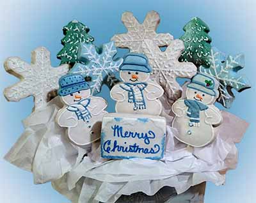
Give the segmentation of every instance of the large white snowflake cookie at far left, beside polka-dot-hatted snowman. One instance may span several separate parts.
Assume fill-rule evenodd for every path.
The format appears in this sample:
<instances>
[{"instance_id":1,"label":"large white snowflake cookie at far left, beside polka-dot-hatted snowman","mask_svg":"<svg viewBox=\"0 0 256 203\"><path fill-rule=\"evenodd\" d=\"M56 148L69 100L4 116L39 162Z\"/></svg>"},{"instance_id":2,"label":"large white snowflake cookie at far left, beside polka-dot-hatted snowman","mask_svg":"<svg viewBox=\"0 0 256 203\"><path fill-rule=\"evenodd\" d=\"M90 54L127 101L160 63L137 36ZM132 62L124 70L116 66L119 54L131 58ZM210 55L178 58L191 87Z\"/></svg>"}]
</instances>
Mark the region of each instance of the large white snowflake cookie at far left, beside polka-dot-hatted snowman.
<instances>
[{"instance_id":1,"label":"large white snowflake cookie at far left, beside polka-dot-hatted snowman","mask_svg":"<svg viewBox=\"0 0 256 203\"><path fill-rule=\"evenodd\" d=\"M19 101L34 96L34 110L45 107L48 94L59 88L58 81L68 72L68 64L53 68L50 52L45 47L38 47L31 52L31 64L19 57L9 57L4 62L5 70L20 79L13 86L4 89L8 101Z\"/></svg>"}]
</instances>

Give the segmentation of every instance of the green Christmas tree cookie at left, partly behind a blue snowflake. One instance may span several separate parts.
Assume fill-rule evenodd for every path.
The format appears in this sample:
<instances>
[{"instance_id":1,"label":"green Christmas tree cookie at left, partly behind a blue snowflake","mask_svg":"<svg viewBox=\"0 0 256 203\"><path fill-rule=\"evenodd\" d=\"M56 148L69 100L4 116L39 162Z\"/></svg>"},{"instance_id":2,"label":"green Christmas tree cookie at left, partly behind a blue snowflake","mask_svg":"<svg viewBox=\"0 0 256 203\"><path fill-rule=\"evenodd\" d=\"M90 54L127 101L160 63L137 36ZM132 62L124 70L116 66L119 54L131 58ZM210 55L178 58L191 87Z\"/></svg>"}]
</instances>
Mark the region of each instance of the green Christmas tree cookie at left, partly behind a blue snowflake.
<instances>
[{"instance_id":1,"label":"green Christmas tree cookie at left, partly behind a blue snowflake","mask_svg":"<svg viewBox=\"0 0 256 203\"><path fill-rule=\"evenodd\" d=\"M77 20L72 20L63 27L63 34L65 37L61 40L63 49L57 54L57 58L61 60L60 64L70 64L73 66L76 62L80 62L77 59L77 51L79 43L92 44L94 38L88 34L90 29L83 23Z\"/></svg>"}]
</instances>

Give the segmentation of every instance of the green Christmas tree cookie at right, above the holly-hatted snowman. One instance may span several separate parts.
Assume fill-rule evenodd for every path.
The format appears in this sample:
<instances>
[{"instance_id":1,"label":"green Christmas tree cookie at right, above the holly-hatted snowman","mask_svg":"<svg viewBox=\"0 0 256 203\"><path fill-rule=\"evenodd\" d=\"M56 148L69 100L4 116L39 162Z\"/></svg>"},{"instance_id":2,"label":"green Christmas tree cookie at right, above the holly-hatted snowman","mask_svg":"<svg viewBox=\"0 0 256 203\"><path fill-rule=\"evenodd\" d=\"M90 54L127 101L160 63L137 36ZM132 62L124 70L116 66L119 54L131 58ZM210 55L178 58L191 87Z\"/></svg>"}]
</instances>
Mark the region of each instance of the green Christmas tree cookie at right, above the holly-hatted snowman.
<instances>
[{"instance_id":1,"label":"green Christmas tree cookie at right, above the holly-hatted snowman","mask_svg":"<svg viewBox=\"0 0 256 203\"><path fill-rule=\"evenodd\" d=\"M211 37L207 34L210 29L204 21L195 17L183 27L185 33L180 37L184 41L185 50L179 61L192 62L197 67L210 66L207 56L211 52Z\"/></svg>"}]
</instances>

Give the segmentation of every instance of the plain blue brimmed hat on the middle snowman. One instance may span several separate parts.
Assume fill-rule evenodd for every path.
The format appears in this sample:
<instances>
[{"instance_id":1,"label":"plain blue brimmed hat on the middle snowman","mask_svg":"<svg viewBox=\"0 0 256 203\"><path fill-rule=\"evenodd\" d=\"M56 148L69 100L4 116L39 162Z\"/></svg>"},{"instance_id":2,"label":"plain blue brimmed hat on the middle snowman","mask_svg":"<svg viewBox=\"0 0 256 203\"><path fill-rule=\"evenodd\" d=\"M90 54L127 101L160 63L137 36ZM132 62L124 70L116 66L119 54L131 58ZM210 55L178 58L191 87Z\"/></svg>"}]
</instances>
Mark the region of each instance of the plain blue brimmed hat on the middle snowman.
<instances>
[{"instance_id":1,"label":"plain blue brimmed hat on the middle snowman","mask_svg":"<svg viewBox=\"0 0 256 203\"><path fill-rule=\"evenodd\" d=\"M148 58L143 54L128 53L124 56L124 62L120 66L120 71L140 71L150 73L152 68L148 65Z\"/></svg>"}]
</instances>

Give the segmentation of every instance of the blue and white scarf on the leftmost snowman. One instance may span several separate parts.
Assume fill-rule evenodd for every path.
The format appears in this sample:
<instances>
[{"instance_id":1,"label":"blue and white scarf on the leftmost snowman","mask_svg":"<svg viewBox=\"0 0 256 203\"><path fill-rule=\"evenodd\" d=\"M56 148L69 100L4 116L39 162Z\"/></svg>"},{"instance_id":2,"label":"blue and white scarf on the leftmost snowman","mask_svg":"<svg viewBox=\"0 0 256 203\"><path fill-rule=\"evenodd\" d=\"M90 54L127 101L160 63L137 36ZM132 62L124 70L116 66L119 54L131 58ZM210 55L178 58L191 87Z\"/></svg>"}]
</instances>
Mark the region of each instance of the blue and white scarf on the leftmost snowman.
<instances>
[{"instance_id":1,"label":"blue and white scarf on the leftmost snowman","mask_svg":"<svg viewBox=\"0 0 256 203\"><path fill-rule=\"evenodd\" d=\"M90 98L81 100L77 103L69 105L67 107L67 110L75 112L78 120L82 119L83 121L88 122L92 117L90 111L87 109L88 105L90 104L90 101Z\"/></svg>"}]
</instances>

